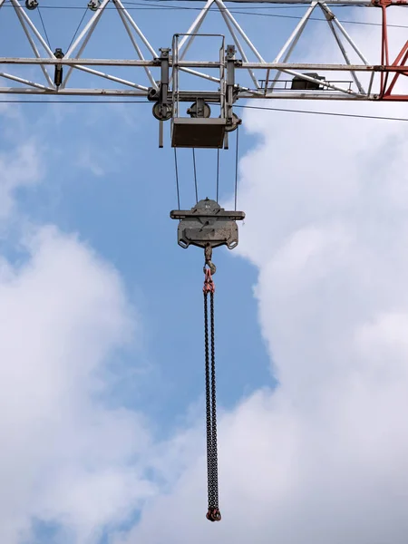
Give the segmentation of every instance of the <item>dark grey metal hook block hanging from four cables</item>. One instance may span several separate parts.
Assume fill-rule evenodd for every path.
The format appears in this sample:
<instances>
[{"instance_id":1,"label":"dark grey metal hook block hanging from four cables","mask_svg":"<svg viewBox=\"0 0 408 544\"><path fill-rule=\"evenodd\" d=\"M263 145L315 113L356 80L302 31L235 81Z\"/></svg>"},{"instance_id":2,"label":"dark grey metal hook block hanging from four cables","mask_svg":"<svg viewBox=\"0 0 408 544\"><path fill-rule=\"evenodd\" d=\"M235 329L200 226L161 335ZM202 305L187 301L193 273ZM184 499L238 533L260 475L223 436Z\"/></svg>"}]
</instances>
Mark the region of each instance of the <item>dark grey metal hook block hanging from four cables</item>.
<instances>
[{"instance_id":1,"label":"dark grey metal hook block hanging from four cables","mask_svg":"<svg viewBox=\"0 0 408 544\"><path fill-rule=\"evenodd\" d=\"M245 219L243 211L226 211L215 200L204 199L192 209L173 209L171 219L180 219L178 242L181 248L218 248L238 246L238 225Z\"/></svg>"}]
</instances>

